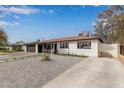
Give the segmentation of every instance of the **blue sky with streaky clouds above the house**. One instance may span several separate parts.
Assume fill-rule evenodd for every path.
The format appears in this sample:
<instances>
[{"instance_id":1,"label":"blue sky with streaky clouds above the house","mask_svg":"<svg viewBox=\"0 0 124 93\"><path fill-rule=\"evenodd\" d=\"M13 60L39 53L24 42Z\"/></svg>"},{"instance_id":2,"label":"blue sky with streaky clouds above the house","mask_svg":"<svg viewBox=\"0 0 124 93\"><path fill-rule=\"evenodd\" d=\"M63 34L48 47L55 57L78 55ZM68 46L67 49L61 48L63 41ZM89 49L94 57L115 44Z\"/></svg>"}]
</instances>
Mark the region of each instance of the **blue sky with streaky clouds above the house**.
<instances>
[{"instance_id":1,"label":"blue sky with streaky clouds above the house","mask_svg":"<svg viewBox=\"0 0 124 93\"><path fill-rule=\"evenodd\" d=\"M76 36L93 31L97 14L108 6L0 6L0 27L9 42Z\"/></svg>"}]
</instances>

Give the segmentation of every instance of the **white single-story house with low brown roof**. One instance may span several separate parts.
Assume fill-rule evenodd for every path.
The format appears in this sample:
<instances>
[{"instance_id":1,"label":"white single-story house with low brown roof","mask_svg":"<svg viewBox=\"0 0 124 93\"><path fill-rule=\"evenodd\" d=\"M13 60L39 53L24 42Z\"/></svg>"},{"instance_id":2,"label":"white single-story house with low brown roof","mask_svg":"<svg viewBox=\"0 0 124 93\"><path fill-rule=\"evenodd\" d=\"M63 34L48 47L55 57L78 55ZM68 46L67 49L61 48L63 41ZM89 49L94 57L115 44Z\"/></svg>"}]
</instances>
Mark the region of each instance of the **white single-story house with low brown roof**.
<instances>
[{"instance_id":1,"label":"white single-story house with low brown roof","mask_svg":"<svg viewBox=\"0 0 124 93\"><path fill-rule=\"evenodd\" d=\"M26 43L24 51L98 57L101 43L98 37L73 36Z\"/></svg>"}]
</instances>

